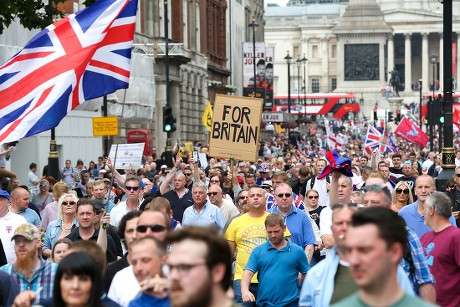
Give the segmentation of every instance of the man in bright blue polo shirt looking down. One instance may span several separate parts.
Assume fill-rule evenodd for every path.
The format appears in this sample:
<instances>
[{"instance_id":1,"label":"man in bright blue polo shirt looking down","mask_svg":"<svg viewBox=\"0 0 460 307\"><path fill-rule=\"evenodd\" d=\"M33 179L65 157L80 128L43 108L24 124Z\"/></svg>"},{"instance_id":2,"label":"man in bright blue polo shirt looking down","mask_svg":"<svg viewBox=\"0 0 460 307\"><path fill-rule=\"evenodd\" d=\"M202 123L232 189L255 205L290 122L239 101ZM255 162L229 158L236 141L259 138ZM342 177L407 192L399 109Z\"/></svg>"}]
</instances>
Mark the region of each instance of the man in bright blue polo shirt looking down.
<instances>
[{"instance_id":1,"label":"man in bright blue polo shirt looking down","mask_svg":"<svg viewBox=\"0 0 460 307\"><path fill-rule=\"evenodd\" d=\"M256 300L249 291L249 283L254 274L259 273L258 306L297 307L299 302L297 278L300 273L303 280L310 268L307 258L300 246L284 238L286 225L281 215L271 213L267 216L265 229L268 241L254 248L244 268L241 280L243 301ZM274 280L276 283L273 282Z\"/></svg>"}]
</instances>

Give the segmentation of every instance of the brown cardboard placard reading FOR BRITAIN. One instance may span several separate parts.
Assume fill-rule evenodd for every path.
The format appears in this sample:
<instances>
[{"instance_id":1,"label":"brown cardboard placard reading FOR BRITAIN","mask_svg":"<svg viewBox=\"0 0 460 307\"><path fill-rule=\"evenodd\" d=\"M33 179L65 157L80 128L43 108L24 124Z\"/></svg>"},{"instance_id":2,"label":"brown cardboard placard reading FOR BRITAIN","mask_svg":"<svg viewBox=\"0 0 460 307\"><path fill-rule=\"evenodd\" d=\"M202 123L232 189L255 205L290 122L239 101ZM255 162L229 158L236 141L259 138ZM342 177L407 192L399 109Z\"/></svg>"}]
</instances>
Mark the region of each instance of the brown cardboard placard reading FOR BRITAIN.
<instances>
[{"instance_id":1,"label":"brown cardboard placard reading FOR BRITAIN","mask_svg":"<svg viewBox=\"0 0 460 307\"><path fill-rule=\"evenodd\" d=\"M212 157L257 160L262 99L216 95L209 153Z\"/></svg>"}]
</instances>

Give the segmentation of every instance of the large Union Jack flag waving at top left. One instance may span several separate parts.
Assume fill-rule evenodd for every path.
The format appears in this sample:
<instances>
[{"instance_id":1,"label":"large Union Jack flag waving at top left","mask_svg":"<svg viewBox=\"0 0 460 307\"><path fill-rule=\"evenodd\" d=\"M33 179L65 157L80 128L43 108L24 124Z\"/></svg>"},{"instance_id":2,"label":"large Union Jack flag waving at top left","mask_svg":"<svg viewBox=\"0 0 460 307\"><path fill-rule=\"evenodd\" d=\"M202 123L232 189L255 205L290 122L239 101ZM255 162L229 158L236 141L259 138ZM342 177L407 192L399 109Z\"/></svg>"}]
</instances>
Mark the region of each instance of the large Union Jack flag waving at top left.
<instances>
[{"instance_id":1,"label":"large Union Jack flag waving at top left","mask_svg":"<svg viewBox=\"0 0 460 307\"><path fill-rule=\"evenodd\" d=\"M0 67L0 144L56 127L127 88L137 0L100 0L38 33Z\"/></svg>"}]
</instances>

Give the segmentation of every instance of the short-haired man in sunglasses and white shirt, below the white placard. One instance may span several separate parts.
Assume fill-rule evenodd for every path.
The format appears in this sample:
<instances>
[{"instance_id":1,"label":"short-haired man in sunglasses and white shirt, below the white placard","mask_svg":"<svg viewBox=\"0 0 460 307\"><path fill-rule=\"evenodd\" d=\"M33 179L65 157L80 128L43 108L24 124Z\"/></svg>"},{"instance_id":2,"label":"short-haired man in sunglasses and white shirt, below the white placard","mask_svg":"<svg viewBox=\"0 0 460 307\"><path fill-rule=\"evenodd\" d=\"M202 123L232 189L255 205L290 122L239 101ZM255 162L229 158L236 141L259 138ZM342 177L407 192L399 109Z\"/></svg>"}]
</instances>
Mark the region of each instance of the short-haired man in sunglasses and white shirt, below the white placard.
<instances>
[{"instance_id":1,"label":"short-haired man in sunglasses and white shirt, below the white placard","mask_svg":"<svg viewBox=\"0 0 460 307\"><path fill-rule=\"evenodd\" d=\"M139 195L141 195L140 179L137 177L130 177L125 181L126 200L120 202L115 208L110 211L110 224L118 227L121 219L126 213L138 210L141 204Z\"/></svg>"}]
</instances>

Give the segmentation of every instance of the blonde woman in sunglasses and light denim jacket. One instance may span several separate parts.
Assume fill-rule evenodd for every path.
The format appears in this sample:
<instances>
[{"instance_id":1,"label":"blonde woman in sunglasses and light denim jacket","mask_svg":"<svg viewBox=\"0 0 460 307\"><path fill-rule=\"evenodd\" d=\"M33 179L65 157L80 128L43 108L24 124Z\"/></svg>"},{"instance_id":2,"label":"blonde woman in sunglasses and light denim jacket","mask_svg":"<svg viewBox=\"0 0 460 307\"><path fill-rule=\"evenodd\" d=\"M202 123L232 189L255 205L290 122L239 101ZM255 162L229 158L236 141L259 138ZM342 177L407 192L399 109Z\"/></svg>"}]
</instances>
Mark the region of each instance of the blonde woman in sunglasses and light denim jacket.
<instances>
[{"instance_id":1,"label":"blonde woman in sunglasses and light denim jacket","mask_svg":"<svg viewBox=\"0 0 460 307\"><path fill-rule=\"evenodd\" d=\"M78 226L75 214L77 212L78 197L73 193L66 193L58 201L58 219L49 223L43 242L43 255L51 255L51 247L57 240L66 237L73 228Z\"/></svg>"}]
</instances>

